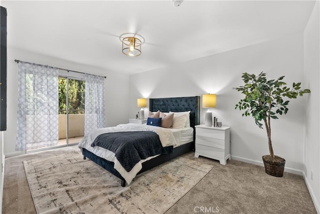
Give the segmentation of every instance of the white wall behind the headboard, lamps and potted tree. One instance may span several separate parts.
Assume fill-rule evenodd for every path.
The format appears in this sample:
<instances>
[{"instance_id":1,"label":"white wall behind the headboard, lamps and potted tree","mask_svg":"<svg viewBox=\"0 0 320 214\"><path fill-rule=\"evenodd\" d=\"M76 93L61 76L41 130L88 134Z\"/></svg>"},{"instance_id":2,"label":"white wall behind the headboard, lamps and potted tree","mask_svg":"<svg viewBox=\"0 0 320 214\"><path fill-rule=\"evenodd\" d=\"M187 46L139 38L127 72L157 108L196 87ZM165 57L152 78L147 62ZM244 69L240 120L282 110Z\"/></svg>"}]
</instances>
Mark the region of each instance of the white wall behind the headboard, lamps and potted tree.
<instances>
[{"instance_id":1,"label":"white wall behind the headboard, lamps and potted tree","mask_svg":"<svg viewBox=\"0 0 320 214\"><path fill-rule=\"evenodd\" d=\"M218 41L216 41L218 42ZM242 117L234 105L243 97L232 87L242 85L241 73L264 71L268 78L284 75L287 83L303 81L303 35L256 44L236 50L181 62L169 67L130 75L130 117L137 112L136 98L196 96L217 94L213 116L231 126L231 155L261 164L268 153L267 136L253 118ZM273 149L286 159L286 170L301 174L303 169L303 102L291 100L289 111L271 123ZM205 109L200 122L204 123ZM258 162L256 162L258 161ZM290 170L289 170L290 171ZM292 171L292 170L291 170Z\"/></svg>"}]
</instances>

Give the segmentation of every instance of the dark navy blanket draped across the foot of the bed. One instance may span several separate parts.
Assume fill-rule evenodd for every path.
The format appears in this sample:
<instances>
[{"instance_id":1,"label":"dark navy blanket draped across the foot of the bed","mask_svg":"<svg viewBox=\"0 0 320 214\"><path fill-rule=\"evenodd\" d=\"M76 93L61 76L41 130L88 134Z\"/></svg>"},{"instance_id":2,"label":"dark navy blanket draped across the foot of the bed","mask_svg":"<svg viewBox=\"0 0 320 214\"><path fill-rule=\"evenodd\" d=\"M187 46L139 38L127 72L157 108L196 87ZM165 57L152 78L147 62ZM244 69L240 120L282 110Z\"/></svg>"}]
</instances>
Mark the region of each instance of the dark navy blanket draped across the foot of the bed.
<instances>
[{"instance_id":1,"label":"dark navy blanket draped across the foot of the bed","mask_svg":"<svg viewBox=\"0 0 320 214\"><path fill-rule=\"evenodd\" d=\"M173 152L173 146L162 147L159 136L151 131L104 133L97 136L91 146L112 151L127 172L142 159Z\"/></svg>"}]
</instances>

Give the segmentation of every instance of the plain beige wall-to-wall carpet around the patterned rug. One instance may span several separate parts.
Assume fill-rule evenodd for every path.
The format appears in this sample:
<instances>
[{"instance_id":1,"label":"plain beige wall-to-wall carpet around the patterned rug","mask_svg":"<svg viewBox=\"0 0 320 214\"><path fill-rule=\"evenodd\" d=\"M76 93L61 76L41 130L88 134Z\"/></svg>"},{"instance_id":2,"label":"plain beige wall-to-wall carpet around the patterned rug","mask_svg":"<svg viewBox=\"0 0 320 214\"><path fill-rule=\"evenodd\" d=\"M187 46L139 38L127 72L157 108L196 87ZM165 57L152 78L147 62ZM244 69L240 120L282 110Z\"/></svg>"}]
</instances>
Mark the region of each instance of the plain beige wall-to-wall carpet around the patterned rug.
<instances>
[{"instance_id":1,"label":"plain beige wall-to-wall carpet around the patterned rug","mask_svg":"<svg viewBox=\"0 0 320 214\"><path fill-rule=\"evenodd\" d=\"M36 213L25 177L23 161L45 158L56 152L72 150L64 147L5 158L3 214ZM165 214L196 213L197 207L218 206L218 213L316 213L303 177L284 172L272 177L264 168L236 160L226 165L209 158L184 158L213 165L190 191L171 206ZM199 213L199 212L197 212Z\"/></svg>"}]
</instances>

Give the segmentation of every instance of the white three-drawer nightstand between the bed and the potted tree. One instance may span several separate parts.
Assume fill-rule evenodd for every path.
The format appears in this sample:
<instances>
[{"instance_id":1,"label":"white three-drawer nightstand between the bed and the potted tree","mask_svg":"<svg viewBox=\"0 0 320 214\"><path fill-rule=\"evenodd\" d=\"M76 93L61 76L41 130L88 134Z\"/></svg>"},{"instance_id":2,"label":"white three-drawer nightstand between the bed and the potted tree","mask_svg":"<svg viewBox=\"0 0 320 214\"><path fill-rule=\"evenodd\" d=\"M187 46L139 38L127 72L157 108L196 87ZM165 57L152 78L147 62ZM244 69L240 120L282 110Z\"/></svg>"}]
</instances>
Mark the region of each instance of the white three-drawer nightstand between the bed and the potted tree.
<instances>
[{"instance_id":1,"label":"white three-drawer nightstand between the bed and the potted tree","mask_svg":"<svg viewBox=\"0 0 320 214\"><path fill-rule=\"evenodd\" d=\"M225 165L230 157L230 127L195 126L194 157L209 157Z\"/></svg>"}]
</instances>

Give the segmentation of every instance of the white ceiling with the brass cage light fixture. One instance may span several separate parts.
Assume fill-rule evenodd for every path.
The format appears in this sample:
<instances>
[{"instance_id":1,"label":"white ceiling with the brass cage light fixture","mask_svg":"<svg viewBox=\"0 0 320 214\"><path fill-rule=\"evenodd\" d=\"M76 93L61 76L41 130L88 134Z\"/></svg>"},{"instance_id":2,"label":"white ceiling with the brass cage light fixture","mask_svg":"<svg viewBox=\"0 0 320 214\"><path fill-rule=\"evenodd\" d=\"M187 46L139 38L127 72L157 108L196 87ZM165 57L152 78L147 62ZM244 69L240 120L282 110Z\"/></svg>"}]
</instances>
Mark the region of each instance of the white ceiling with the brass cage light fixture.
<instances>
[{"instance_id":1,"label":"white ceiling with the brass cage light fixture","mask_svg":"<svg viewBox=\"0 0 320 214\"><path fill-rule=\"evenodd\" d=\"M1 1L8 46L134 74L303 32L314 1ZM145 39L121 52L119 36ZM54 66L54 65L53 65Z\"/></svg>"}]
</instances>

